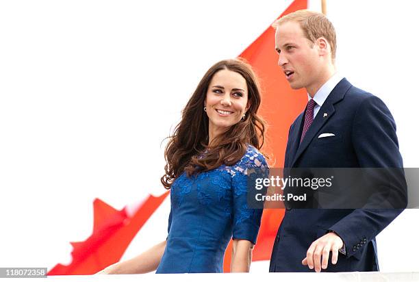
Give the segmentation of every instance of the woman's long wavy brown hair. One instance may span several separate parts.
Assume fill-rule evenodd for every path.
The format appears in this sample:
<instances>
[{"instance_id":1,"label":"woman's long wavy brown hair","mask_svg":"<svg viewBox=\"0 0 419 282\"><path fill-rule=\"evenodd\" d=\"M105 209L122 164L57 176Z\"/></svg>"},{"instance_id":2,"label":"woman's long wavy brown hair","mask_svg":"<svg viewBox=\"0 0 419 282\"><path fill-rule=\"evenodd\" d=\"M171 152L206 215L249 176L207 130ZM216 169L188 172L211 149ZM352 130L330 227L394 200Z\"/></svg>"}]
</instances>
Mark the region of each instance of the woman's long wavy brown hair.
<instances>
[{"instance_id":1,"label":"woman's long wavy brown hair","mask_svg":"<svg viewBox=\"0 0 419 282\"><path fill-rule=\"evenodd\" d=\"M246 79L250 103L246 117L208 144L208 116L204 103L212 77L223 69L240 73ZM265 140L266 123L257 116L261 100L255 73L242 59L223 60L212 66L203 76L182 111L181 122L175 127L166 145L165 175L160 179L166 189L183 172L188 176L218 168L222 164L236 164L246 152L246 144L261 149Z\"/></svg>"}]
</instances>

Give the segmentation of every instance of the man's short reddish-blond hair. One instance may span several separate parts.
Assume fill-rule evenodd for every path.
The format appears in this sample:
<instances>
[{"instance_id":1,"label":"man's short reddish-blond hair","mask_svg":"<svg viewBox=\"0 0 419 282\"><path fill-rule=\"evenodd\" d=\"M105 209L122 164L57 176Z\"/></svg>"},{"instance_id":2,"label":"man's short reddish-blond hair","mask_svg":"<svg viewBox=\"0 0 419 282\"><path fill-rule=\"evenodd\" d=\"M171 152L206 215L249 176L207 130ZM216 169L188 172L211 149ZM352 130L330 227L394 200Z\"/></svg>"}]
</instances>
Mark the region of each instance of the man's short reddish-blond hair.
<instances>
[{"instance_id":1,"label":"man's short reddish-blond hair","mask_svg":"<svg viewBox=\"0 0 419 282\"><path fill-rule=\"evenodd\" d=\"M330 44L332 60L335 60L336 32L332 23L324 14L309 10L298 10L277 19L277 21L272 24L272 27L277 29L279 25L289 21L299 23L305 37L313 43L320 37L326 38L327 42Z\"/></svg>"}]
</instances>

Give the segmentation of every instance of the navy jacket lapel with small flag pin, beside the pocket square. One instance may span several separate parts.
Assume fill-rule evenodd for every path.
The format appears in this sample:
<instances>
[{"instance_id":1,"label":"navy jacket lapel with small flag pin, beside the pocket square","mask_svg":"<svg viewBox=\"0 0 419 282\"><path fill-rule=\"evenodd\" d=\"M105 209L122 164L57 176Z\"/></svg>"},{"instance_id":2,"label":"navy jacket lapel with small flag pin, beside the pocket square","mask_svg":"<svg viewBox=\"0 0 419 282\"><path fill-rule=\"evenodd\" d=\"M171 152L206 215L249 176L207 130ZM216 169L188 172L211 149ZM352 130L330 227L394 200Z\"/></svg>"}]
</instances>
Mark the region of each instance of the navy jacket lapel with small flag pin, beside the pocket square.
<instances>
[{"instance_id":1,"label":"navy jacket lapel with small flag pin, beside the pocket square","mask_svg":"<svg viewBox=\"0 0 419 282\"><path fill-rule=\"evenodd\" d=\"M345 78L342 79L336 86L333 88L331 93L329 94L329 97L327 97L325 103L323 103L322 107L320 107L320 110L316 114L316 118L314 118L312 125L309 127L307 132L305 133L303 142L299 144L300 140L296 138L294 141L294 144L298 146L298 149L296 150L295 156L292 159L292 164L290 167L294 167L295 162L301 154L307 149L307 146L312 142L314 136L322 129L322 127L327 123L327 120L333 116L335 113L335 107L334 104L338 103L340 100L344 98L344 95L346 91L351 87L351 84L349 81L347 81ZM325 114L327 114L325 116ZM303 118L301 118L302 120ZM299 121L300 127L301 127L301 120ZM301 134L296 134L297 137L301 136ZM300 146L299 146L300 145Z\"/></svg>"}]
</instances>

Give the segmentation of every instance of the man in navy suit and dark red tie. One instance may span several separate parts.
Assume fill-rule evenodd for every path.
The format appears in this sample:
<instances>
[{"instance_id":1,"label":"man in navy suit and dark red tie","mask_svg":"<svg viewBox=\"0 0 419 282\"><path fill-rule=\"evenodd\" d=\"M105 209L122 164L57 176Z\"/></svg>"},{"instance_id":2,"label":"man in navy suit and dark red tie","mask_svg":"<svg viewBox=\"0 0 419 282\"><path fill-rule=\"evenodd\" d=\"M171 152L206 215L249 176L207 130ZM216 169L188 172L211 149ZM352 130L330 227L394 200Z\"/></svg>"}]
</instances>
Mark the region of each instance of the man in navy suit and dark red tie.
<instances>
[{"instance_id":1,"label":"man in navy suit and dark red tie","mask_svg":"<svg viewBox=\"0 0 419 282\"><path fill-rule=\"evenodd\" d=\"M272 26L279 66L290 86L305 88L309 96L305 111L290 127L284 167L402 168L388 108L336 72L330 21L299 10ZM406 187L401 190L405 193ZM379 270L375 236L401 211L287 209L270 272Z\"/></svg>"}]
</instances>

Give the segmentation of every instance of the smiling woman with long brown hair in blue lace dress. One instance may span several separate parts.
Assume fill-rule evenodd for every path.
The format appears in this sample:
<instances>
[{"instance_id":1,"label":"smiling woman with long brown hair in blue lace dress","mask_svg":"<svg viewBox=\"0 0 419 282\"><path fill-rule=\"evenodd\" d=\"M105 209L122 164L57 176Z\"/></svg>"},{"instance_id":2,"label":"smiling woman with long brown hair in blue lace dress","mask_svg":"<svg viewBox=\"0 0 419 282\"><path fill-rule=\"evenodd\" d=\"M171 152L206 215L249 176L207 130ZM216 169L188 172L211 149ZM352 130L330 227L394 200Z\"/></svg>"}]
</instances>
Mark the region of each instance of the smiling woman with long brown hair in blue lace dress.
<instances>
[{"instance_id":1,"label":"smiling woman with long brown hair in blue lace dress","mask_svg":"<svg viewBox=\"0 0 419 282\"><path fill-rule=\"evenodd\" d=\"M166 241L102 272L223 272L233 238L231 272L249 272L262 209L247 206L247 177L267 173L260 91L249 64L223 60L192 94L166 146L170 215Z\"/></svg>"}]
</instances>

